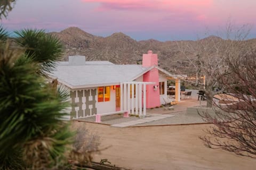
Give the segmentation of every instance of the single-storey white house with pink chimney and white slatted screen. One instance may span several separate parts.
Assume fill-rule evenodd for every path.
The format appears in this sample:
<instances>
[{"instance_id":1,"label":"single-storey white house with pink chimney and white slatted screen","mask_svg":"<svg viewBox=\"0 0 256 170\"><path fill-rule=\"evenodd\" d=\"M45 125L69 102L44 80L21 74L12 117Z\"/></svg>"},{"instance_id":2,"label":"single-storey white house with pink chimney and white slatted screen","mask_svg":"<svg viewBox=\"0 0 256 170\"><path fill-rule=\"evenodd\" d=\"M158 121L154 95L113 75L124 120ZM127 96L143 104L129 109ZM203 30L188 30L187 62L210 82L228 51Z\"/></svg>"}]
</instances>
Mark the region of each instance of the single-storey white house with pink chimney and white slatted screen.
<instances>
[{"instance_id":1,"label":"single-storey white house with pink chimney and white slatted screen","mask_svg":"<svg viewBox=\"0 0 256 170\"><path fill-rule=\"evenodd\" d=\"M167 80L175 79L175 101L180 101L180 78L158 67L157 54L143 54L142 65L85 61L69 56L51 75L70 91L70 118L127 111L146 115L146 109L166 103Z\"/></svg>"}]
</instances>

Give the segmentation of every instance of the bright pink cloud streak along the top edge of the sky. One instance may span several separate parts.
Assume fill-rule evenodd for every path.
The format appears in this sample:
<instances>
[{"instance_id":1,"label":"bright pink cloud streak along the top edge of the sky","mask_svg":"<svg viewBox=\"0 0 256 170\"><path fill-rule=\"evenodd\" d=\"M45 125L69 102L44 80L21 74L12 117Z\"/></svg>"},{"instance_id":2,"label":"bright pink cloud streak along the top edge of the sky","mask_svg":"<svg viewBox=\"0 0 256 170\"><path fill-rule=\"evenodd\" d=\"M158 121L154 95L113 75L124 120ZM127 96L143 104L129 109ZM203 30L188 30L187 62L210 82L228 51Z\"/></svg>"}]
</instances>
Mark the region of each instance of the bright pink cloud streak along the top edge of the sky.
<instances>
[{"instance_id":1,"label":"bright pink cloud streak along the top edge of the sky","mask_svg":"<svg viewBox=\"0 0 256 170\"><path fill-rule=\"evenodd\" d=\"M207 9L213 5L213 0L81 0L83 3L97 3L95 11L132 11L134 20L141 15L154 19L154 14L159 18L172 16L181 20L206 21ZM161 20L161 19L160 19Z\"/></svg>"}]
</instances>

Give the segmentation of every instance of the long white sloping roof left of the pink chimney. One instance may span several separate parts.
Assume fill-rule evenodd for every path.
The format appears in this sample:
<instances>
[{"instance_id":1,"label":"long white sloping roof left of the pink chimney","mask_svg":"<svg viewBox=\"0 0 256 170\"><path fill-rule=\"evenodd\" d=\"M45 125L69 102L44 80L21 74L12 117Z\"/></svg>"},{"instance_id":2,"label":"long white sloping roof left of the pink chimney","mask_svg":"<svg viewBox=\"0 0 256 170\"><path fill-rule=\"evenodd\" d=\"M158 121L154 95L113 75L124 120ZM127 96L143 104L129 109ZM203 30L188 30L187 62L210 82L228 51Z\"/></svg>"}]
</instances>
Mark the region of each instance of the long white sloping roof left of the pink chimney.
<instances>
[{"instance_id":1,"label":"long white sloping roof left of the pink chimney","mask_svg":"<svg viewBox=\"0 0 256 170\"><path fill-rule=\"evenodd\" d=\"M137 64L92 63L94 64L68 65L68 63L59 63L51 77L58 78L59 82L70 88L98 87L133 81L153 68L142 67L142 65Z\"/></svg>"}]
</instances>

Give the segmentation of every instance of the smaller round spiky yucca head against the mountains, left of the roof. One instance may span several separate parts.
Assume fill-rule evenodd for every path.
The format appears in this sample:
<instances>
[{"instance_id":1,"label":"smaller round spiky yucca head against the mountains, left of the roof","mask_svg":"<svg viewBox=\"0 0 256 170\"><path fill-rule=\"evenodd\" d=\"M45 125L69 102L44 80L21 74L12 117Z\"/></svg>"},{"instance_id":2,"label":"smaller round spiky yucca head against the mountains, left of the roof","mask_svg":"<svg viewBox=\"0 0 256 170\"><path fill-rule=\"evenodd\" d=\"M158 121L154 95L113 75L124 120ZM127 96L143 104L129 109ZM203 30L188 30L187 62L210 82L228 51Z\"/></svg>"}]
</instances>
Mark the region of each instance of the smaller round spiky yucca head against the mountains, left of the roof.
<instances>
[{"instance_id":1,"label":"smaller round spiky yucca head against the mountains, left of the roof","mask_svg":"<svg viewBox=\"0 0 256 170\"><path fill-rule=\"evenodd\" d=\"M54 69L54 63L61 60L63 48L58 38L36 29L23 29L14 33L17 43L25 48L28 57L39 64L39 74L46 76Z\"/></svg>"}]
</instances>

